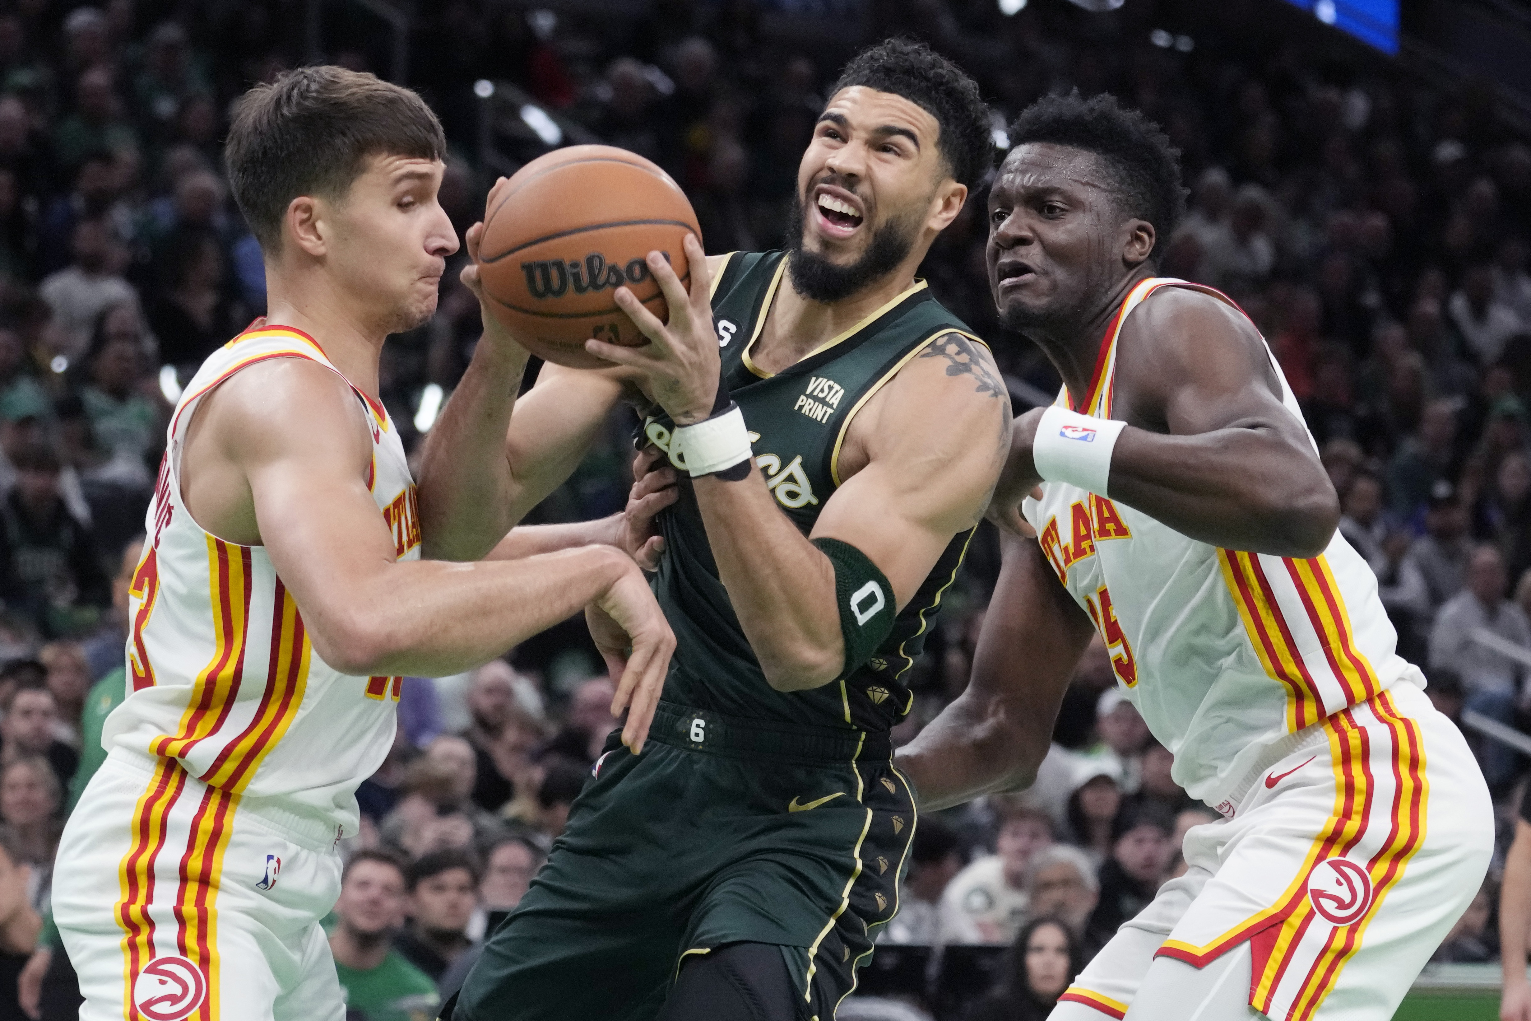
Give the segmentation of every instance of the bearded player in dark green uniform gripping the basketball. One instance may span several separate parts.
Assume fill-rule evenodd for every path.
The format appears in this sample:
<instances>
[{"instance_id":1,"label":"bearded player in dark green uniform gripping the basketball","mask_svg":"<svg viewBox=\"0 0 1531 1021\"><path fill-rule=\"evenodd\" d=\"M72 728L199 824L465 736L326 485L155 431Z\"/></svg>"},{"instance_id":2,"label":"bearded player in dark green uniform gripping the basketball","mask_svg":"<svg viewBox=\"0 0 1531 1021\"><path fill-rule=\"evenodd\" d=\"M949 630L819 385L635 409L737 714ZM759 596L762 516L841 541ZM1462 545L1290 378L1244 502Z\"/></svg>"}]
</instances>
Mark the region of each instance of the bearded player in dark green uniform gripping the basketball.
<instances>
[{"instance_id":1,"label":"bearded player in dark green uniform gripping the basketball","mask_svg":"<svg viewBox=\"0 0 1531 1021\"><path fill-rule=\"evenodd\" d=\"M651 253L669 321L617 295L652 343L591 341L612 369L545 366L514 415L527 355L487 321L427 445L427 533L482 556L640 401L669 462L645 479L680 476L677 654L643 755L608 742L455 1021L828 1021L854 986L916 824L888 729L1009 449L992 357L914 276L992 153L974 81L883 43L819 116L788 251L687 239L689 292Z\"/></svg>"}]
</instances>

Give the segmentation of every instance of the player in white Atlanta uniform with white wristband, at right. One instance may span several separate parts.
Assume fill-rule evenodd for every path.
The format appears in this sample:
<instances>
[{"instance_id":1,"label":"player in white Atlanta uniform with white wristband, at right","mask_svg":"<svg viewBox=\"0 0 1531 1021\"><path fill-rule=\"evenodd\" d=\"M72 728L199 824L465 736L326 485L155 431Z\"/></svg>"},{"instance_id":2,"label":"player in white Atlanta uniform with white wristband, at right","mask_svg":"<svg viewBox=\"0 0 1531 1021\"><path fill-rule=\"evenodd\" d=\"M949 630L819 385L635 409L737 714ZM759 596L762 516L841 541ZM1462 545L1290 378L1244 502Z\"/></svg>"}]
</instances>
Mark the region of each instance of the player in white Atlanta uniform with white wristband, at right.
<instances>
[{"instance_id":1,"label":"player in white Atlanta uniform with white wristband, at right","mask_svg":"<svg viewBox=\"0 0 1531 1021\"><path fill-rule=\"evenodd\" d=\"M995 501L1036 542L1006 545L972 684L900 768L925 807L1024 781L1098 631L1176 782L1225 817L1187 834L1187 874L1053 1021L1386 1021L1484 877L1484 779L1395 654L1265 340L1222 294L1154 276L1183 208L1168 139L1078 95L1010 139L989 283L1064 389L1017 419ZM1027 693L1030 726L1004 727ZM1003 741L1021 761L989 753Z\"/></svg>"}]
</instances>

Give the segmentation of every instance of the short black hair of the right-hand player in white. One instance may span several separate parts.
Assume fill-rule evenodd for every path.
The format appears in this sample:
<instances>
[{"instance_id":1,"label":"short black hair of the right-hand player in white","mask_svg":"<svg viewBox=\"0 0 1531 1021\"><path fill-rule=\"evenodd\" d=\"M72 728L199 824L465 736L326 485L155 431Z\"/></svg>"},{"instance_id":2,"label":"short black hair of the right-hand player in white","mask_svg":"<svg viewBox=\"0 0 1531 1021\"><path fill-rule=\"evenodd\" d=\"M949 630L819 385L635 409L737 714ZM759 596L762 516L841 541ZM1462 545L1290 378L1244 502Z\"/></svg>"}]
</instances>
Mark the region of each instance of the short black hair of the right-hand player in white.
<instances>
[{"instance_id":1,"label":"short black hair of the right-hand player in white","mask_svg":"<svg viewBox=\"0 0 1531 1021\"><path fill-rule=\"evenodd\" d=\"M1141 110L1125 109L1110 93L1085 99L1075 89L1069 95L1043 96L1010 124L1010 145L1027 142L1069 145L1099 156L1115 179L1121 213L1153 223L1156 250L1170 242L1185 217L1180 150Z\"/></svg>"}]
</instances>

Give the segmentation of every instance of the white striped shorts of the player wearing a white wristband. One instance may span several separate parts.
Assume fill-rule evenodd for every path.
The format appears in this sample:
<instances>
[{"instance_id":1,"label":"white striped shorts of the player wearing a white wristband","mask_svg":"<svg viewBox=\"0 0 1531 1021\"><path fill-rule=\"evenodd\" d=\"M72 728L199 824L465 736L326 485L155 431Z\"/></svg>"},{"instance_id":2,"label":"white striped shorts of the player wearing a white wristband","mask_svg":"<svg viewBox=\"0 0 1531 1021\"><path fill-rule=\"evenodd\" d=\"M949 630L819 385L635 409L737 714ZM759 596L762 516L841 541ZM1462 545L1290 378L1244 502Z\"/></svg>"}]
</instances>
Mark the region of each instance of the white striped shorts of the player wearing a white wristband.
<instances>
[{"instance_id":1,"label":"white striped shorts of the player wearing a white wristband","mask_svg":"<svg viewBox=\"0 0 1531 1021\"><path fill-rule=\"evenodd\" d=\"M1055 1021L1188 1018L1202 1007L1183 998L1136 1003L1156 958L1203 969L1245 944L1248 990L1236 977L1202 1021L1249 1007L1277 1021L1393 1016L1484 882L1488 788L1458 729L1409 683L1309 730L1248 778L1232 817L1187 833L1185 876L1122 925Z\"/></svg>"}]
</instances>

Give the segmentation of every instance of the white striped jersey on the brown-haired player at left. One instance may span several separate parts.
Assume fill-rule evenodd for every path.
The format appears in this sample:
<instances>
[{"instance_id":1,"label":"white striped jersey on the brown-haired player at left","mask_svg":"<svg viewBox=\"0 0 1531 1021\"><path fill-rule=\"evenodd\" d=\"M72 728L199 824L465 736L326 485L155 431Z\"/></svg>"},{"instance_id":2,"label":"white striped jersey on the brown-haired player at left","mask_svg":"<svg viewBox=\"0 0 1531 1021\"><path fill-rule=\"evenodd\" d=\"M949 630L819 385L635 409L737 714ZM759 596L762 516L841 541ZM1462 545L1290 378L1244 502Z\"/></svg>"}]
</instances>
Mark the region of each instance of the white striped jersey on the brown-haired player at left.
<instances>
[{"instance_id":1,"label":"white striped jersey on the brown-haired player at left","mask_svg":"<svg viewBox=\"0 0 1531 1021\"><path fill-rule=\"evenodd\" d=\"M274 804L323 816L351 834L355 788L393 744L401 680L349 677L325 663L265 548L204 531L181 502L179 456L197 401L268 358L308 358L340 373L314 338L257 320L187 386L170 419L130 589L129 692L106 721L103 745L179 759L210 787L279 798ZM404 445L383 406L352 390L372 433L372 497L393 533L397 559L418 559Z\"/></svg>"}]
</instances>

